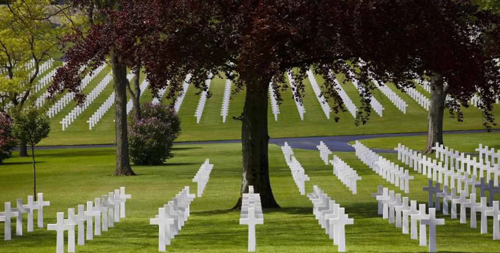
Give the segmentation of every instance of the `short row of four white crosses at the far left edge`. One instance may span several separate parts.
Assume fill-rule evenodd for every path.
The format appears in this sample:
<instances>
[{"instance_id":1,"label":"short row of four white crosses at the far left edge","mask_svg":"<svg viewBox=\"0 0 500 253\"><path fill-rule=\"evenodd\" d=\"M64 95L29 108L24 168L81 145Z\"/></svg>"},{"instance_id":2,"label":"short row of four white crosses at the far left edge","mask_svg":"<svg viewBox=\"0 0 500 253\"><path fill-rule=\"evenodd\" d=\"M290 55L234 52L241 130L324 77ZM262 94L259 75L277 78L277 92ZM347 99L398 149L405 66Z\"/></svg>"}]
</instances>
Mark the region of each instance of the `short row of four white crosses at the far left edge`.
<instances>
[{"instance_id":1,"label":"short row of four white crosses at the far left edge","mask_svg":"<svg viewBox=\"0 0 500 253\"><path fill-rule=\"evenodd\" d=\"M10 202L5 202L5 209L0 212L0 222L4 222L3 239L12 239L10 232L10 219L15 217L15 235L22 236L22 214L27 214L26 231L33 232L33 215L37 211L37 227L43 228L43 207L50 206L49 201L43 201L43 193L37 194L38 199L33 201L33 196L28 196L27 204L22 204L22 199L16 200L15 208L11 208Z\"/></svg>"}]
</instances>

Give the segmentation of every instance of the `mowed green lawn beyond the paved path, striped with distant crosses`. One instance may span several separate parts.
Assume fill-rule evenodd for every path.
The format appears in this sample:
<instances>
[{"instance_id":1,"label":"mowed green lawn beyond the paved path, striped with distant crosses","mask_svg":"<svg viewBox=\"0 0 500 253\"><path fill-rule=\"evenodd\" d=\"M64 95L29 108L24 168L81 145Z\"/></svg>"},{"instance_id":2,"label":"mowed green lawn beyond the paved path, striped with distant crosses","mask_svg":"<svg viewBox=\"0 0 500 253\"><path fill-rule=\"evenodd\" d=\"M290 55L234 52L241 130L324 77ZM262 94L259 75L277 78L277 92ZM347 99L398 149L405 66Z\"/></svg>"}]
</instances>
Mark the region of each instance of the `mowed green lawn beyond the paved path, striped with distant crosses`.
<instances>
[{"instance_id":1,"label":"mowed green lawn beyond the paved path, striped with distant crosses","mask_svg":"<svg viewBox=\"0 0 500 253\"><path fill-rule=\"evenodd\" d=\"M91 84L87 86L84 93L90 91L102 77L107 74L109 69L102 71ZM341 76L338 76L342 82ZM141 80L143 79L141 76ZM316 76L321 85L323 80ZM424 132L427 128L427 111L412 100L407 94L398 91L393 85L388 84L392 90L399 94L404 101L408 103L406 114L398 111L397 108L385 97L379 90L375 90L374 97L384 106L383 117L379 117L374 112L366 125L355 126L354 118L348 112L340 112L339 122L335 122L333 113L330 119L326 119L318 100L310 86L309 81L304 80L305 97L303 105L305 108L304 120L300 120L297 108L292 98L292 92L288 89L282 93L283 101L279 105L280 113L278 120L274 121L274 115L271 113L271 107L267 113L269 135L271 138L280 137L300 137L300 136L328 136L328 135L351 135L351 134L375 134L375 133L402 133L402 132ZM202 140L228 140L240 139L241 122L233 120L233 117L241 115L244 102L244 90L231 96L229 102L229 114L226 123L222 123L220 115L222 107L223 88L225 80L220 77L214 77L211 81L210 91L212 97L205 103L201 121L196 124L194 112L199 101L199 90L190 85L178 115L181 119L182 133L176 141L202 141ZM113 143L114 140L114 109L110 109L94 129L88 130L86 121L88 117L101 105L101 103L112 92L112 86L109 85L98 98L87 108L87 110L78 116L78 118L69 126L66 131L61 130L59 121L74 106L71 103L66 106L62 112L52 119L52 131L49 137L42 140L39 145L76 145L76 144L104 144ZM347 95L359 107L359 93L351 83L343 83ZM425 91L421 91L429 96ZM141 102L150 102L151 93L146 91L141 97ZM164 100L163 103L169 103ZM494 106L494 115L500 117L500 106ZM463 108L464 121L457 122L445 114L445 130L465 130L482 129L482 115L475 107Z\"/></svg>"}]
</instances>

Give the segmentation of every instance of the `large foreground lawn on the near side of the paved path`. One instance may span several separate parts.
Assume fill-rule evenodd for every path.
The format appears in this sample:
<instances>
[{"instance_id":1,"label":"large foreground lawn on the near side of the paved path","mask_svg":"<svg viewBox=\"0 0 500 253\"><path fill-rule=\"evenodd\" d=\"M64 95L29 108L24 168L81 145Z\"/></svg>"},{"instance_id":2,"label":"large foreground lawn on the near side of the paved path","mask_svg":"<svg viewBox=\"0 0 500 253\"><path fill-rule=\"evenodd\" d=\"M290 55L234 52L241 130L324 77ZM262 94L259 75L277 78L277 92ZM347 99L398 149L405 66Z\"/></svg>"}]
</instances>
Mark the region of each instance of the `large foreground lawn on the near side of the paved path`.
<instances>
[{"instance_id":1,"label":"large foreground lawn on the near side of the paved path","mask_svg":"<svg viewBox=\"0 0 500 253\"><path fill-rule=\"evenodd\" d=\"M476 143L476 142L474 142ZM322 164L317 151L294 150L298 161L309 175L306 192L313 184L321 187L341 207L345 208L354 225L346 227L348 252L400 253L427 252L418 242L402 235L400 229L388 224L376 214L376 201L371 193L379 184L396 190L354 156L336 153L362 177L358 194L352 195L336 178L331 166ZM239 212L229 209L238 197L241 180L241 147L239 144L175 146L175 157L163 166L134 166L135 177L113 177L113 148L56 149L36 151L37 189L51 206L44 210L45 229L35 228L24 236L12 235L12 241L0 243L5 253L53 253L55 232L46 231L47 223L55 222L56 212L67 212L87 200L125 186L132 199L126 203L126 218L109 232L76 246L85 253L152 253L157 251L157 226L149 225L159 207L170 200L185 185L195 189L191 179L201 163L210 158L214 164L203 197L191 204L191 216L180 234L167 246L176 253L245 253L247 227L238 225ZM395 154L383 154L395 162ZM270 180L274 196L281 209L264 210L264 224L256 227L257 252L266 253L330 253L332 241L324 234L312 215L312 205L300 196L293 183L281 150L269 146ZM30 158L14 157L0 165L0 203L13 202L30 195ZM422 187L426 177L413 173L410 199L425 203ZM437 227L437 250L440 252L498 252L498 242L492 241L491 219L489 234L481 235L469 224L446 217L446 224ZM24 217L25 221L25 217ZM15 222L12 224L14 230ZM3 237L0 223L0 238Z\"/></svg>"}]
</instances>

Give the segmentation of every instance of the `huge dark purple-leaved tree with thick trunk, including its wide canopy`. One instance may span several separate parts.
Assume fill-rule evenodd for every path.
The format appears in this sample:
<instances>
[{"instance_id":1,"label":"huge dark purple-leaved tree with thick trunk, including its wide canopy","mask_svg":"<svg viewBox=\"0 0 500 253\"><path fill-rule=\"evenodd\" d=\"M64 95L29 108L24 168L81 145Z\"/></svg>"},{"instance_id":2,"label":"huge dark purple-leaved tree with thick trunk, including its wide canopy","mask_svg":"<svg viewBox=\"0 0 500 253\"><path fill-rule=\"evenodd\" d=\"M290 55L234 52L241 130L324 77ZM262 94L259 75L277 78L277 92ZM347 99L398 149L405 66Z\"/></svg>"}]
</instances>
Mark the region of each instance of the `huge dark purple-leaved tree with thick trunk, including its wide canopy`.
<instances>
[{"instance_id":1,"label":"huge dark purple-leaved tree with thick trunk, including its wide canopy","mask_svg":"<svg viewBox=\"0 0 500 253\"><path fill-rule=\"evenodd\" d=\"M322 91L335 113L344 107L334 74L358 79L363 92L356 124L366 123L370 114L371 78L402 88L435 73L458 102L465 103L479 90L485 115L500 88L498 67L492 61L497 55L480 50L480 37L470 39L479 31L488 32L497 17L477 11L465 0L121 0L116 4L120 9L109 9L108 22L70 37L74 44L67 52L68 64L58 70L52 91L77 91L80 66L95 68L110 52L123 67L143 65L153 93L167 86L170 99L176 98L188 74L200 90L206 89L208 73L225 74L235 83L233 92L245 92L238 117L240 194L253 185L264 208L278 207L269 182L268 85L272 80L280 99L279 91L287 87L285 71L295 70L293 92L299 96L308 69L323 76ZM240 204L241 195L234 208Z\"/></svg>"}]
</instances>

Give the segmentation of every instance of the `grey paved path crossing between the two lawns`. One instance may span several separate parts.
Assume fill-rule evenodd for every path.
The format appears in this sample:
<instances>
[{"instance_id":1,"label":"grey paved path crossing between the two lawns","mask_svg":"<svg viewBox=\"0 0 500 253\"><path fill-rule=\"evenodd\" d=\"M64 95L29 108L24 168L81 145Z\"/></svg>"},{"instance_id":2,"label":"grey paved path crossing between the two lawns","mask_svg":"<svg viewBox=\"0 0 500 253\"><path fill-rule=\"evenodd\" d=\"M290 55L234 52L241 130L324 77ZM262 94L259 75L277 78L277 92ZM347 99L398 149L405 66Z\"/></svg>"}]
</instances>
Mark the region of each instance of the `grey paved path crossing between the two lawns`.
<instances>
[{"instance_id":1,"label":"grey paved path crossing between the two lawns","mask_svg":"<svg viewBox=\"0 0 500 253\"><path fill-rule=\"evenodd\" d=\"M492 130L494 132L500 129ZM444 131L445 134L463 134L463 133L484 133L485 130L463 130L463 131ZM420 133L399 133L399 134L369 134L369 135L343 135L343 136L319 136L319 137L293 137L293 138L272 138L269 143L282 146L286 141L292 148L316 150L316 145L319 141L323 141L328 148L333 152L354 152L354 148L349 145L349 142L362 139L380 138L380 137L398 137L398 136L417 136L426 135L426 132ZM241 140L225 140L225 141L196 141L196 142L176 142L174 145L199 145L199 144L217 144L217 143L240 143ZM105 148L113 147L112 144L102 145L75 145L75 146L40 146L35 149L61 149L61 148ZM393 153L393 150L378 150L375 152Z\"/></svg>"}]
</instances>

